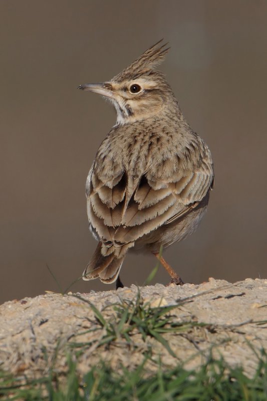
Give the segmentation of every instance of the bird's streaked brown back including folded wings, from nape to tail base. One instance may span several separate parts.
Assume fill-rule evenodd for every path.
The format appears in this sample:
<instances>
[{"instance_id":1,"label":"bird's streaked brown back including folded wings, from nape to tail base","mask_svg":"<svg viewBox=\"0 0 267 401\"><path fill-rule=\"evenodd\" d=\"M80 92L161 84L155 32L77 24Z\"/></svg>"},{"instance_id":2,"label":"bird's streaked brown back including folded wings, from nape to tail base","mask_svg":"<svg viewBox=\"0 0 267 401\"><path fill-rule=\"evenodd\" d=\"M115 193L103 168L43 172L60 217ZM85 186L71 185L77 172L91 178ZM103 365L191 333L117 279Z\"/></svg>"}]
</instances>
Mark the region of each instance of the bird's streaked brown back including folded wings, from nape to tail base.
<instances>
[{"instance_id":1,"label":"bird's streaked brown back including folded wings, from nape to tail base","mask_svg":"<svg viewBox=\"0 0 267 401\"><path fill-rule=\"evenodd\" d=\"M88 179L88 216L107 252L117 247L121 254L119 248L178 221L209 191L210 152L184 121L175 122L115 126L100 145Z\"/></svg>"}]
</instances>

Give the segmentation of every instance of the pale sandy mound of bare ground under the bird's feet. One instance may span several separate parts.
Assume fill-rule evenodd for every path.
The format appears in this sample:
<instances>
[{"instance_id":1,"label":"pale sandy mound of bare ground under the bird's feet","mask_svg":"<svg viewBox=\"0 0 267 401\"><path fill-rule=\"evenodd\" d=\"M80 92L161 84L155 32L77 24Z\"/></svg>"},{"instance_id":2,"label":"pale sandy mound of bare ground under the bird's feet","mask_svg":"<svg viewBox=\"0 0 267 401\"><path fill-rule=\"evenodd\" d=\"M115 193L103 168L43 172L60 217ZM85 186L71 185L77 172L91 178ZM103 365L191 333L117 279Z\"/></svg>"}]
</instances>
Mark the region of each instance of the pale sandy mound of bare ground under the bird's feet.
<instances>
[{"instance_id":1,"label":"pale sandy mound of bare ground under the bird's feet","mask_svg":"<svg viewBox=\"0 0 267 401\"><path fill-rule=\"evenodd\" d=\"M72 293L48 293L4 303L0 306L1 367L31 377L46 374L52 366L63 372L68 350L86 343L77 357L81 374L101 360L115 369L121 364L134 368L149 351L152 360L148 373L157 368L153 359L158 360L158 356L163 367L182 361L194 368L212 353L218 358L222 355L232 366L242 365L251 375L260 349L267 350L267 280L246 279L231 284L211 278L200 285L140 287L143 305L176 305L166 316L170 322L181 323L181 330L163 334L173 354L149 335L144 340L138 330L131 332L130 342L118 330L114 341L101 344L107 327L101 327L86 301L116 327L113 304L129 300L135 303L137 293L138 288L132 285L118 291L78 294L83 300Z\"/></svg>"}]
</instances>

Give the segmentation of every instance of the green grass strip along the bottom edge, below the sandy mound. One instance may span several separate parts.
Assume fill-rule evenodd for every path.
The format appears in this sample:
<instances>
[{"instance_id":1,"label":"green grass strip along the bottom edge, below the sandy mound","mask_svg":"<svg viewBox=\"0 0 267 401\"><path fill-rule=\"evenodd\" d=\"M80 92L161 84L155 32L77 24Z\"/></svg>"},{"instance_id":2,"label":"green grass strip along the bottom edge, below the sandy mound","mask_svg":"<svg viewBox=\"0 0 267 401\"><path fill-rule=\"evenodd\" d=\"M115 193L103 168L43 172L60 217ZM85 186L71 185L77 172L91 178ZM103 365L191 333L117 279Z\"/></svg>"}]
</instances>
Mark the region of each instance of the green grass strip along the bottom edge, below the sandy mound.
<instances>
[{"instance_id":1,"label":"green grass strip along the bottom edge, below the sandy mound","mask_svg":"<svg viewBox=\"0 0 267 401\"><path fill-rule=\"evenodd\" d=\"M52 381L49 374L39 380L26 381L0 373L2 400L27 401L265 401L267 399L267 363L262 350L253 377L247 377L241 367L231 368L223 359L212 357L197 370L185 370L181 365L158 371L146 377L146 356L132 371L113 371L101 362L79 379L76 363L69 356L65 384ZM56 383L56 384L55 384Z\"/></svg>"}]
</instances>

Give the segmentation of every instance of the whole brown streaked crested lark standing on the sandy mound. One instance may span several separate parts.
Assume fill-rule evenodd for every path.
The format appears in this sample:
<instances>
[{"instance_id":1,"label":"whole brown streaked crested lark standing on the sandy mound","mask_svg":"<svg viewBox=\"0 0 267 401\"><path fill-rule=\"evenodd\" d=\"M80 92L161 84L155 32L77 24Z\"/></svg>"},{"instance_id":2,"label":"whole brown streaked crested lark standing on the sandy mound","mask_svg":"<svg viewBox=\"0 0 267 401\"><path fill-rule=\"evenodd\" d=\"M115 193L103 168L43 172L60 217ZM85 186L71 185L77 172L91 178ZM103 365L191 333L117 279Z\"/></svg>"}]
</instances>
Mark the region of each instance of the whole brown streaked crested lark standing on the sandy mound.
<instances>
[{"instance_id":1,"label":"whole brown streaked crested lark standing on the sandy mound","mask_svg":"<svg viewBox=\"0 0 267 401\"><path fill-rule=\"evenodd\" d=\"M170 283L183 284L162 249L197 228L214 170L208 146L191 129L156 68L170 49L162 41L111 80L78 86L108 99L117 114L86 180L89 228L98 245L84 280L123 287L119 272L133 251L151 252Z\"/></svg>"}]
</instances>

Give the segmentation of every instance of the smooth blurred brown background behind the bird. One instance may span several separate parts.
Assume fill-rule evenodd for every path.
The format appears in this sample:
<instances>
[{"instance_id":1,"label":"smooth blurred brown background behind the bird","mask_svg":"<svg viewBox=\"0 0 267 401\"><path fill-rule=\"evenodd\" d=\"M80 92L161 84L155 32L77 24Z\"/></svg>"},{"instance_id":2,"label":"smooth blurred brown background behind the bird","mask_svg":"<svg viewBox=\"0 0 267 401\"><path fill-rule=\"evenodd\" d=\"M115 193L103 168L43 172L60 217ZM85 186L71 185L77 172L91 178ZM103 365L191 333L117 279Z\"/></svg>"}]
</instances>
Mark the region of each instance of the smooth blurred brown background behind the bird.
<instances>
[{"instance_id":1,"label":"smooth blurred brown background behind the bird","mask_svg":"<svg viewBox=\"0 0 267 401\"><path fill-rule=\"evenodd\" d=\"M115 111L76 87L161 38L161 70L216 174L199 229L166 259L193 283L266 277L266 1L1 0L0 38L0 302L58 291L46 264L63 289L82 274L96 246L85 180ZM123 282L141 285L155 263L129 255ZM168 282L163 269L155 282Z\"/></svg>"}]
</instances>

